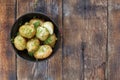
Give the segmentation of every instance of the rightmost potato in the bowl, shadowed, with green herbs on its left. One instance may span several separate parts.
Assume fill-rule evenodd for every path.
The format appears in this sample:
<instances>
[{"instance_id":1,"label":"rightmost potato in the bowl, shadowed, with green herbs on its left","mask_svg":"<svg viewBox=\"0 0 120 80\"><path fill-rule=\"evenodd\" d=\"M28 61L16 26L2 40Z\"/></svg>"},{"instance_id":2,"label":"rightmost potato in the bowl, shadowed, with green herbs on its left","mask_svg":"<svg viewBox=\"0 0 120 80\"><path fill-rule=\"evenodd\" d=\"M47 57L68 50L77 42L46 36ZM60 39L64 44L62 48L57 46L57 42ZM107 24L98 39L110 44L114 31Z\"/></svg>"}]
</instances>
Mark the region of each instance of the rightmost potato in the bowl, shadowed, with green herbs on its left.
<instances>
[{"instance_id":1,"label":"rightmost potato in the bowl, shadowed, with green herbs on its left","mask_svg":"<svg viewBox=\"0 0 120 80\"><path fill-rule=\"evenodd\" d=\"M54 47L56 43L57 37L55 34L50 35L45 41L44 44L50 45L51 47Z\"/></svg>"}]
</instances>

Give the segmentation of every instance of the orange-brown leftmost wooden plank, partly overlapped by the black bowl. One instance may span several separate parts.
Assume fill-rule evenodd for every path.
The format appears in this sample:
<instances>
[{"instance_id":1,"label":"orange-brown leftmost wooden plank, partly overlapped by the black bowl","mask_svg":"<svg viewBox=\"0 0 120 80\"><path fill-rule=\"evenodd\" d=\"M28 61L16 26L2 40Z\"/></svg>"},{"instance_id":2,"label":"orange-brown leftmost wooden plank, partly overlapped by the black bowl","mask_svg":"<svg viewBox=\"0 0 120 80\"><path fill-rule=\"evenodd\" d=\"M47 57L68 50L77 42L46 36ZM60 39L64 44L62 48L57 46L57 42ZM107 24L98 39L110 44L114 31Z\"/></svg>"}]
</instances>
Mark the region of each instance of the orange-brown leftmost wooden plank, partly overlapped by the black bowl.
<instances>
[{"instance_id":1,"label":"orange-brown leftmost wooden plank, partly overlapped by the black bowl","mask_svg":"<svg viewBox=\"0 0 120 80\"><path fill-rule=\"evenodd\" d=\"M16 57L10 43L15 0L0 0L0 80L16 80Z\"/></svg>"}]
</instances>

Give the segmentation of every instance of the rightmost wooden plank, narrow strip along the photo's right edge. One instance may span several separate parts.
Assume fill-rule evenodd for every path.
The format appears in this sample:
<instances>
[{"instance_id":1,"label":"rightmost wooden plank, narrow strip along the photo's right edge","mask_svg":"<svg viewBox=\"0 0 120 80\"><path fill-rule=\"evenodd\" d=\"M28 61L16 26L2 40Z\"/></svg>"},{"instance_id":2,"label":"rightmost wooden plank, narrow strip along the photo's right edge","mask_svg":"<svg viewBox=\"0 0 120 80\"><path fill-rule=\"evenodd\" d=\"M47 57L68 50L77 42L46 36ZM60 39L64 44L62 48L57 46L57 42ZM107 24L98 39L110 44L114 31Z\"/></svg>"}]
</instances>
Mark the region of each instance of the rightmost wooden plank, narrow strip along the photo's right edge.
<instances>
[{"instance_id":1,"label":"rightmost wooden plank, narrow strip along the photo's right edge","mask_svg":"<svg viewBox=\"0 0 120 80\"><path fill-rule=\"evenodd\" d=\"M109 0L108 80L120 80L120 1Z\"/></svg>"}]
</instances>

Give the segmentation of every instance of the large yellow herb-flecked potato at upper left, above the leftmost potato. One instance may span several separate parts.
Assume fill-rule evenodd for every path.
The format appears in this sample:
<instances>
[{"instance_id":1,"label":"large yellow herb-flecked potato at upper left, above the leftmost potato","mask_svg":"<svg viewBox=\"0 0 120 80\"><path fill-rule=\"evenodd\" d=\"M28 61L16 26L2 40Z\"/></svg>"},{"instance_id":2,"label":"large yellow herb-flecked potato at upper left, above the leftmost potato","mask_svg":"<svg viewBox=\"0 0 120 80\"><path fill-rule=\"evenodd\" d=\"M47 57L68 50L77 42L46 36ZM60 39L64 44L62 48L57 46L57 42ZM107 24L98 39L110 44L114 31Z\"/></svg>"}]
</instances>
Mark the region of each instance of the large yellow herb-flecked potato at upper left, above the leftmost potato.
<instances>
[{"instance_id":1,"label":"large yellow herb-flecked potato at upper left, above the leftmost potato","mask_svg":"<svg viewBox=\"0 0 120 80\"><path fill-rule=\"evenodd\" d=\"M26 25L22 25L19 28L19 33L21 36L30 39L30 38L34 37L36 30L34 28L34 25L27 25L26 24Z\"/></svg>"}]
</instances>

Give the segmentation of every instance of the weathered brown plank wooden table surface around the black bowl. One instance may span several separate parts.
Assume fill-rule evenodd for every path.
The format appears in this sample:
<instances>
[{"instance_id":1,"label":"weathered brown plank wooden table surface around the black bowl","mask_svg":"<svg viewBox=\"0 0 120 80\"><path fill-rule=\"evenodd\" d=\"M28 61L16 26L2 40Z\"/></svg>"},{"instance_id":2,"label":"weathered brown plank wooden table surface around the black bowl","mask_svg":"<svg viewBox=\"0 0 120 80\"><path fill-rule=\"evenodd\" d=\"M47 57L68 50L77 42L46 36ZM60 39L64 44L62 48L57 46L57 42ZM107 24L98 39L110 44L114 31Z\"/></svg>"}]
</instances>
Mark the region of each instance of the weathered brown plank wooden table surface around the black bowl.
<instances>
[{"instance_id":1,"label":"weathered brown plank wooden table surface around the black bowl","mask_svg":"<svg viewBox=\"0 0 120 80\"><path fill-rule=\"evenodd\" d=\"M14 21L43 12L62 31L59 50L34 63L15 55ZM120 80L120 0L0 0L0 80Z\"/></svg>"}]
</instances>

